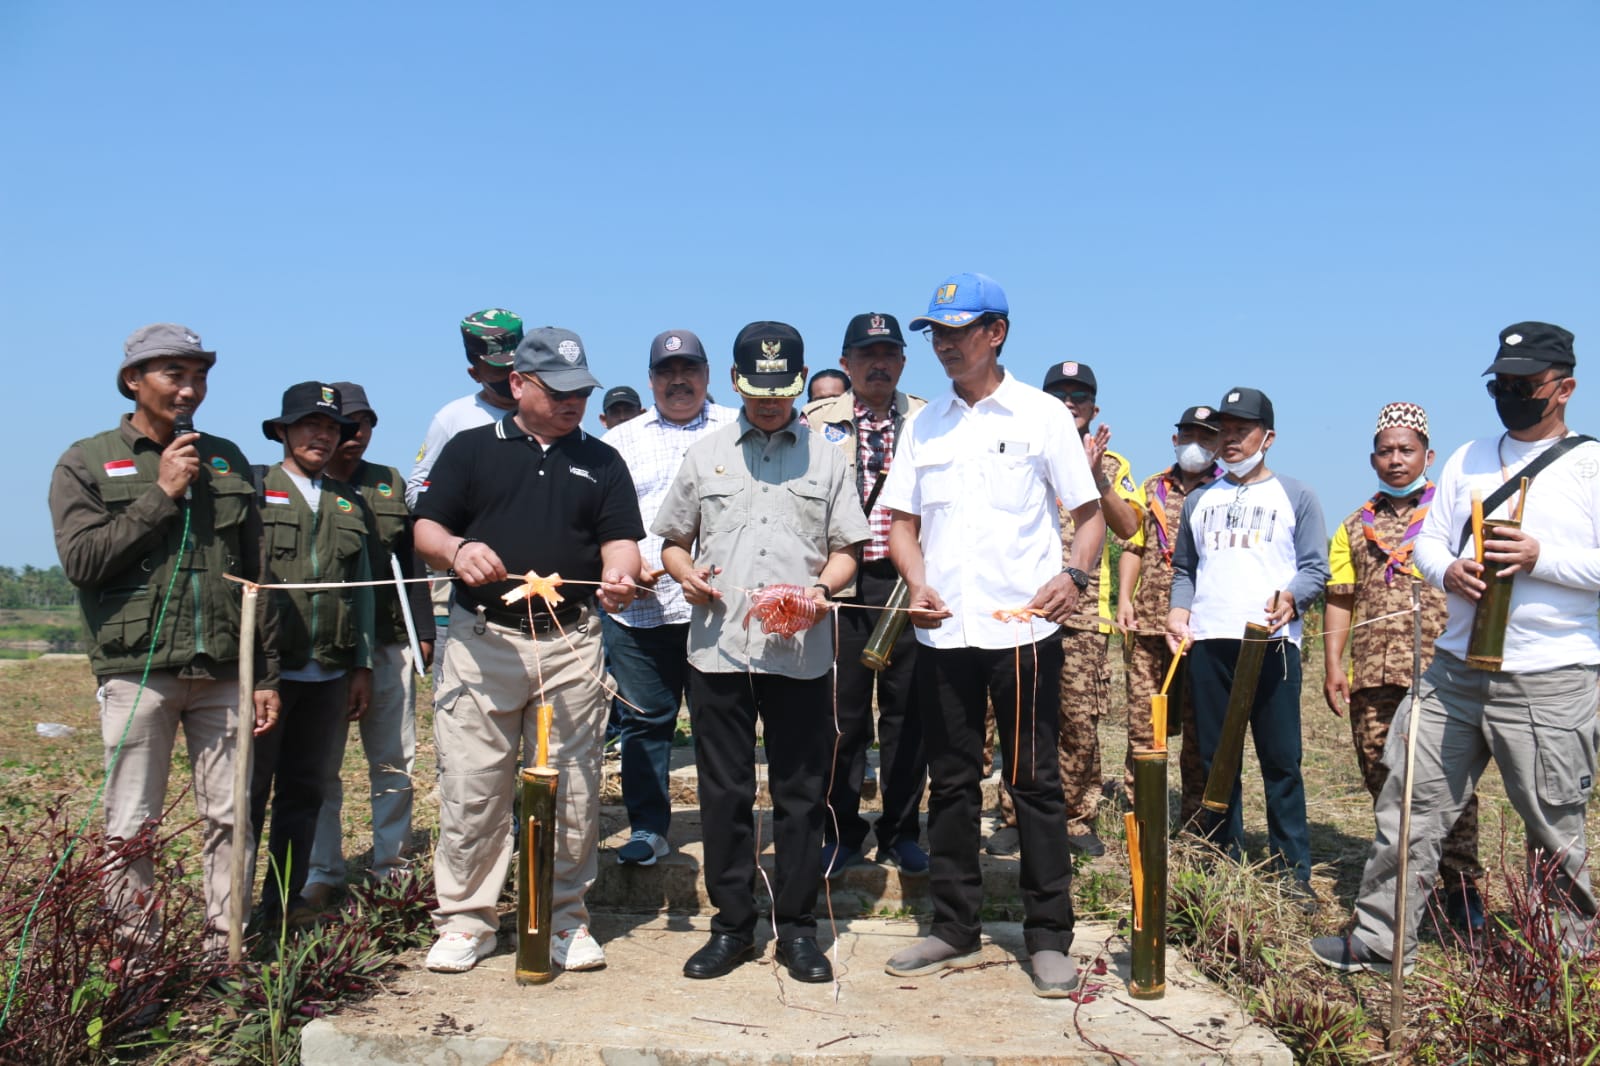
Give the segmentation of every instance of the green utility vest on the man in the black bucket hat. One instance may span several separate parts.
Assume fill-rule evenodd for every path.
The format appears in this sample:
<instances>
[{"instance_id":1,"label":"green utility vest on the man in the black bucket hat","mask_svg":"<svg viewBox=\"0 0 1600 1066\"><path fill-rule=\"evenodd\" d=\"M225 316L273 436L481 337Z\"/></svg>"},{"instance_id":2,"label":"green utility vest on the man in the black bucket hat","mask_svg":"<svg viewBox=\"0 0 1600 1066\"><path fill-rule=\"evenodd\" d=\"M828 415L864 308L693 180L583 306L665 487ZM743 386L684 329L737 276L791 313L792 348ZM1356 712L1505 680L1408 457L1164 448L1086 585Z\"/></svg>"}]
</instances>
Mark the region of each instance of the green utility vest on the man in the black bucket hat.
<instances>
[{"instance_id":1,"label":"green utility vest on the man in the black bucket hat","mask_svg":"<svg viewBox=\"0 0 1600 1066\"><path fill-rule=\"evenodd\" d=\"M261 539L267 583L368 581L366 507L350 485L325 477L314 512L277 464L262 479ZM373 664L371 587L272 589L278 608L278 664L328 669Z\"/></svg>"}]
</instances>

